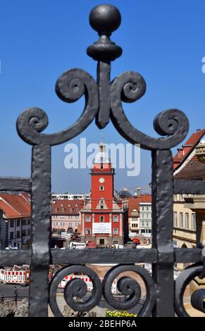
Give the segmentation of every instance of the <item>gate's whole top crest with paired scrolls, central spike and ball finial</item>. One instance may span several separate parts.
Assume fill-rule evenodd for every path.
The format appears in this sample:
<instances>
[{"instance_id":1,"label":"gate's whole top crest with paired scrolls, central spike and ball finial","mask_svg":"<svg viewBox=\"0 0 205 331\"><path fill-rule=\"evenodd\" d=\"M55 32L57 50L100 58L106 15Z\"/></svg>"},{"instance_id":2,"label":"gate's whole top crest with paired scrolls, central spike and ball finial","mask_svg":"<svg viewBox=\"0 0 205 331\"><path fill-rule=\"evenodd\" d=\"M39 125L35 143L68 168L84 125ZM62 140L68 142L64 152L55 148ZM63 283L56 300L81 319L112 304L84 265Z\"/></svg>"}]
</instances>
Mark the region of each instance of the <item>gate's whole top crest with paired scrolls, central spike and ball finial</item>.
<instances>
[{"instance_id":1,"label":"gate's whole top crest with paired scrolls, central spike and ball finial","mask_svg":"<svg viewBox=\"0 0 205 331\"><path fill-rule=\"evenodd\" d=\"M128 71L110 81L111 61L122 54L120 46L111 41L111 33L118 29L121 16L118 8L111 5L96 6L89 15L89 23L99 34L99 39L87 48L87 54L97 65L97 81L81 69L71 69L63 73L56 82L56 94L68 103L85 96L85 109L80 118L66 130L51 135L41 132L48 125L46 113L40 108L29 108L17 121L20 137L28 144L54 146L68 142L79 135L96 118L96 124L104 128L111 118L120 135L132 144L141 144L144 149L170 149L186 137L189 123L178 109L163 111L156 116L154 128L160 137L149 137L133 127L125 115L122 101L134 102L146 91L142 75Z\"/></svg>"}]
</instances>

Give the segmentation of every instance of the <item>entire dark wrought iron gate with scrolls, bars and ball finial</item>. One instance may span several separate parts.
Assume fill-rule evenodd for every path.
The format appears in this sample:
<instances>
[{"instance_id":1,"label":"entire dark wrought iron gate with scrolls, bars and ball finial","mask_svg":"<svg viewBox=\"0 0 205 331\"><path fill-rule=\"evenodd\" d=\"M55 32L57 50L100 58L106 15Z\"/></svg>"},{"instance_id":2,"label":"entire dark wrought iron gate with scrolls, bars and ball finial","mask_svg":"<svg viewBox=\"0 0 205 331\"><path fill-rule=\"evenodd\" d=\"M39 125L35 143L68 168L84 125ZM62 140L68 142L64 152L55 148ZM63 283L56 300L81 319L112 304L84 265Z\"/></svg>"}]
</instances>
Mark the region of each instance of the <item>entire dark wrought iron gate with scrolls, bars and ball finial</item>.
<instances>
[{"instance_id":1,"label":"entire dark wrought iron gate with scrolls, bars and ball finial","mask_svg":"<svg viewBox=\"0 0 205 331\"><path fill-rule=\"evenodd\" d=\"M1 177L1 191L25 191L32 194L32 250L1 251L1 264L30 264L30 316L47 316L50 304L55 316L61 316L56 304L58 283L69 273L85 273L93 282L92 296L85 303L76 302L73 296L85 295L87 289L82 280L71 280L65 289L69 306L77 311L88 311L96 306L103 294L114 308L129 309L140 299L141 289L136 280L123 277L118 288L129 296L125 301L116 301L111 293L113 279L127 270L132 270L144 280L147 297L139 316L187 316L182 304L185 285L202 266L201 249L173 248L173 194L205 194L204 183L198 181L173 181L173 157L170 149L186 137L189 123L178 109L159 113L154 119L154 128L159 137L154 139L137 130L126 117L122 101L134 102L145 93L144 78L127 71L110 81L111 61L122 54L122 49L111 42L111 33L120 25L120 12L116 7L95 7L89 22L99 34L99 39L87 49L87 54L97 61L97 81L84 70L72 69L63 73L56 82L60 99L72 103L85 96L85 108L80 118L68 129L53 135L45 135L48 125L46 113L40 108L29 108L18 118L18 135L32 145L31 178ZM51 146L68 142L96 119L101 129L111 121L116 130L131 144L141 144L151 151L152 157L152 211L153 227L151 249L101 249L85 251L49 250L51 236ZM94 271L85 263L118 263L108 271L101 284ZM173 264L177 262L199 263L178 277L175 285ZM76 264L77 263L77 264ZM135 263L152 263L152 277ZM53 278L49 285L50 264L67 265Z\"/></svg>"}]
</instances>

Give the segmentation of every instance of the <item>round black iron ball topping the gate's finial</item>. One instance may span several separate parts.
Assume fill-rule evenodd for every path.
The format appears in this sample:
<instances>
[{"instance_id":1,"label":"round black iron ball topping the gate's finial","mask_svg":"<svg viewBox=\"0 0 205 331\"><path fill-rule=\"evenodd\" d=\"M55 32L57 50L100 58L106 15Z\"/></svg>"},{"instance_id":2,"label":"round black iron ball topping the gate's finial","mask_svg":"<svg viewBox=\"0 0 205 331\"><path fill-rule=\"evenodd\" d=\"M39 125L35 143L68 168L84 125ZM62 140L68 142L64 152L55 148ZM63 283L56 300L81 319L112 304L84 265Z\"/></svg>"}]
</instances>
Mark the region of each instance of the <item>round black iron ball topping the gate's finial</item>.
<instances>
[{"instance_id":1,"label":"round black iron ball topping the gate's finial","mask_svg":"<svg viewBox=\"0 0 205 331\"><path fill-rule=\"evenodd\" d=\"M99 35L111 35L118 29L121 23L121 15L118 8L111 5L99 5L89 14L89 24Z\"/></svg>"}]
</instances>

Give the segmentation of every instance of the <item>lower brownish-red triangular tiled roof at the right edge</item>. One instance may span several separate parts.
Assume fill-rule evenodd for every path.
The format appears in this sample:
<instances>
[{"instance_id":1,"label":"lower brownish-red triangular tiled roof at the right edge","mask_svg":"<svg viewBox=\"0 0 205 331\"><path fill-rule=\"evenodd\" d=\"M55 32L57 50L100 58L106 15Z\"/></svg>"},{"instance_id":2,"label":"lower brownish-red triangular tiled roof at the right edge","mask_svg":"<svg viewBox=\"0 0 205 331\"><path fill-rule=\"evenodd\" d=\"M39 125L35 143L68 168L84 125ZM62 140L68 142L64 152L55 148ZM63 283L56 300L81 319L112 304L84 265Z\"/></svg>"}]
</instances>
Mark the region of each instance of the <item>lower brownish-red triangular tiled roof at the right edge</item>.
<instances>
[{"instance_id":1,"label":"lower brownish-red triangular tiled roof at the right edge","mask_svg":"<svg viewBox=\"0 0 205 331\"><path fill-rule=\"evenodd\" d=\"M174 175L175 180L205 180L205 164L196 155Z\"/></svg>"}]
</instances>

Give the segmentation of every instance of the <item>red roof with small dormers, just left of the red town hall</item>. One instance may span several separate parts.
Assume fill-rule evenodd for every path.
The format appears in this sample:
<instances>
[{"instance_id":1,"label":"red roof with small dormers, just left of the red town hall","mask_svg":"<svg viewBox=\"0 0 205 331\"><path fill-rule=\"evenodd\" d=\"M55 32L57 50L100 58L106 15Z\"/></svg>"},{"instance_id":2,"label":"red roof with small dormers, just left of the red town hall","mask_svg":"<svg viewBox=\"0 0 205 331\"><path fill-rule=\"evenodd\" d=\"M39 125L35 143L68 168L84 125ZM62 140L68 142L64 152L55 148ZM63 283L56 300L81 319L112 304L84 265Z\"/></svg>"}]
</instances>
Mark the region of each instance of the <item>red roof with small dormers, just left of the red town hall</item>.
<instances>
[{"instance_id":1,"label":"red roof with small dormers, just left of the red town hall","mask_svg":"<svg viewBox=\"0 0 205 331\"><path fill-rule=\"evenodd\" d=\"M84 204L85 204L85 200L80 200L80 199L56 200L56 202L52 203L51 213L52 215L78 215L79 211L84 207Z\"/></svg>"}]
</instances>

